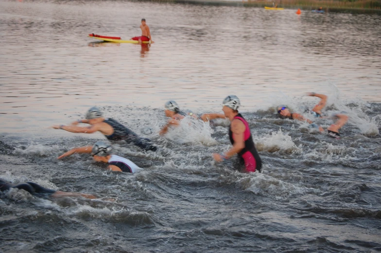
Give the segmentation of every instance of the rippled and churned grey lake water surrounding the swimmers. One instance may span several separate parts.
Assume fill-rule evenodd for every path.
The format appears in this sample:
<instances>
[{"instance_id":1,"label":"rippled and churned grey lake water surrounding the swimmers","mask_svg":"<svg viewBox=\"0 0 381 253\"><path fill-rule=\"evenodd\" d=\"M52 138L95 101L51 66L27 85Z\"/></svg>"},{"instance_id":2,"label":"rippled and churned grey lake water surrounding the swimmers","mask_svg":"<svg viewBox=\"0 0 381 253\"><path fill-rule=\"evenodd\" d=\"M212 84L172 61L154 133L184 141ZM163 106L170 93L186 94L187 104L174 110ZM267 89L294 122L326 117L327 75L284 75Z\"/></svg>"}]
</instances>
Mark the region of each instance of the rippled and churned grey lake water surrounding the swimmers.
<instances>
[{"instance_id":1,"label":"rippled and churned grey lake water surrounding the swimmers","mask_svg":"<svg viewBox=\"0 0 381 253\"><path fill-rule=\"evenodd\" d=\"M155 44L99 43L90 33L139 34ZM128 1L0 1L0 176L99 200L0 199L4 252L381 251L380 16ZM329 96L345 111L343 138L281 120ZM263 173L215 164L228 122L182 124L165 137L163 104L220 112L242 100ZM123 143L116 154L144 171L103 170L88 155L56 157L100 134L52 130L97 105L151 138L157 152ZM319 119L323 127L330 119ZM233 159L234 160L234 159ZM116 199L115 202L107 201Z\"/></svg>"}]
</instances>

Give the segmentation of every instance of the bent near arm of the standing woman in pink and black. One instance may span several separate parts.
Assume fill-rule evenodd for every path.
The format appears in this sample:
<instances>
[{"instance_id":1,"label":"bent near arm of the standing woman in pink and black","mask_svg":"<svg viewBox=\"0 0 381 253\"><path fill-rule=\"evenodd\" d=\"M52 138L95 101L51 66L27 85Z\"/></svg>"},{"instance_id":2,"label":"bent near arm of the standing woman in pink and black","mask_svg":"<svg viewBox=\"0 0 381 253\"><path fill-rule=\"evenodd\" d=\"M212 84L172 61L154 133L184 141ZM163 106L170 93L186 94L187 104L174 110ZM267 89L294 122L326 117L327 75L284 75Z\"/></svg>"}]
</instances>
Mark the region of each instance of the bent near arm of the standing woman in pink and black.
<instances>
[{"instance_id":1,"label":"bent near arm of the standing woman in pink and black","mask_svg":"<svg viewBox=\"0 0 381 253\"><path fill-rule=\"evenodd\" d=\"M243 124L243 122L239 119L234 119L231 122L231 130L233 132L234 145L224 155L214 153L213 158L217 162L222 162L224 159L232 157L245 147L244 132L246 130L246 126Z\"/></svg>"}]
</instances>

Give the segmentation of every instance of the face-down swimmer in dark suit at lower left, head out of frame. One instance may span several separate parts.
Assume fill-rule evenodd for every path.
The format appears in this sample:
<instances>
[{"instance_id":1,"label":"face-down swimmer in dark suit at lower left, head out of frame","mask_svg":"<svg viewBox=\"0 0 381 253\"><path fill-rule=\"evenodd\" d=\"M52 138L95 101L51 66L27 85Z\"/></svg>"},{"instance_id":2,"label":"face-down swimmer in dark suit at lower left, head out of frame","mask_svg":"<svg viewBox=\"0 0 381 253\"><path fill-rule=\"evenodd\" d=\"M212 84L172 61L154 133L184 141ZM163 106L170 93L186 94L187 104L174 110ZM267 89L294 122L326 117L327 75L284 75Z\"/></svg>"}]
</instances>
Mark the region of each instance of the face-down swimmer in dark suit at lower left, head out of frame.
<instances>
[{"instance_id":1,"label":"face-down swimmer in dark suit at lower left, head out of frame","mask_svg":"<svg viewBox=\"0 0 381 253\"><path fill-rule=\"evenodd\" d=\"M57 191L48 189L45 187L42 187L40 185L37 185L36 183L32 182L26 182L21 184L12 184L10 182L7 182L0 178L0 191L8 191L11 188L17 188L22 189L33 196L39 197L39 198L59 198L59 197L85 197L87 199L96 199L94 195L80 193L80 192L65 192L65 191Z\"/></svg>"}]
</instances>

